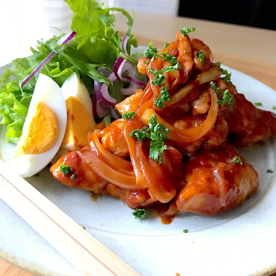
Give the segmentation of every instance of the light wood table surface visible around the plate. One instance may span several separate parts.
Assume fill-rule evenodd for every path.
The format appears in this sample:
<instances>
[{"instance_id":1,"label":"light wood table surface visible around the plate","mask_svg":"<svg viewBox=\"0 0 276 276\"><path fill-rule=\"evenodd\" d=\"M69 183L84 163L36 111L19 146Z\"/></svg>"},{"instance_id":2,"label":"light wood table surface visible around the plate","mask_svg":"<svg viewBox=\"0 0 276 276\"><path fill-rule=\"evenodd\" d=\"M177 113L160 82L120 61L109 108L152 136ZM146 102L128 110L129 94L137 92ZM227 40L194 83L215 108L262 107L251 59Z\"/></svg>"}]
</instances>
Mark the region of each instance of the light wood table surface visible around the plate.
<instances>
[{"instance_id":1,"label":"light wood table surface visible around the plate","mask_svg":"<svg viewBox=\"0 0 276 276\"><path fill-rule=\"evenodd\" d=\"M125 31L125 21L123 16L118 15L116 28ZM154 46L163 47L164 42L174 40L175 33L183 27L196 27L196 31L189 34L190 37L197 37L209 45L216 61L222 61L223 64L244 72L276 90L275 31L191 18L136 13L133 33L137 36L139 45L148 45L153 40ZM0 275L31 276L30 273L3 260L0 260ZM271 276L276 276L276 273Z\"/></svg>"}]
</instances>

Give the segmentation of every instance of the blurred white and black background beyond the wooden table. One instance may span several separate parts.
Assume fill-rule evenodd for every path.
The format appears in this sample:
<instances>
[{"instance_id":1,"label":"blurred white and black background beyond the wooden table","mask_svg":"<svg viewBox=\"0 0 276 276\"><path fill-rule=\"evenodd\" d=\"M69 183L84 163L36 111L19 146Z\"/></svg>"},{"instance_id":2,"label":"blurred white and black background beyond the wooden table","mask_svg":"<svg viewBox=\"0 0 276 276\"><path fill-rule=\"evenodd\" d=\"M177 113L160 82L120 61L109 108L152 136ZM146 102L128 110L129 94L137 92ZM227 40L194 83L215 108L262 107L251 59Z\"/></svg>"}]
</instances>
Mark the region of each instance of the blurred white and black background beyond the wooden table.
<instances>
[{"instance_id":1,"label":"blurred white and black background beyond the wooden table","mask_svg":"<svg viewBox=\"0 0 276 276\"><path fill-rule=\"evenodd\" d=\"M186 0L104 0L104 3L160 16L190 17L276 30L276 0L231 0L219 5L213 0L204 3ZM58 35L58 29L63 32L70 29L72 12L63 0L0 0L0 11L1 65L16 57L29 55L29 47L35 46L37 39Z\"/></svg>"}]
</instances>

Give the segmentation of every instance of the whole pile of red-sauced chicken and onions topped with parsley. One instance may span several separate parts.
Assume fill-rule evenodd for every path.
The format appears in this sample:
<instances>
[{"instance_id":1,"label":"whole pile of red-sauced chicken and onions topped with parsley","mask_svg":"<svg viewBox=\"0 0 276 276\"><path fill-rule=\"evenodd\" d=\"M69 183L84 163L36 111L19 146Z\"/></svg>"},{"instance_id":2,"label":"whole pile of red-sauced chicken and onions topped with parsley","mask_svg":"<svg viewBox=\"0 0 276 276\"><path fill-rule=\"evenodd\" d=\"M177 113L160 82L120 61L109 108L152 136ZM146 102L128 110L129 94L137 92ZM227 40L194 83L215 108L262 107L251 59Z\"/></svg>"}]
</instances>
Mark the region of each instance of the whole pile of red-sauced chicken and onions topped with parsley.
<instances>
[{"instance_id":1,"label":"whole pile of red-sauced chicken and onions topped with parsley","mask_svg":"<svg viewBox=\"0 0 276 276\"><path fill-rule=\"evenodd\" d=\"M182 31L165 50L149 46L137 65L145 89L114 106L123 118L96 125L85 147L51 166L58 181L168 217L218 214L256 192L258 174L234 146L275 135L276 118L239 94L209 47Z\"/></svg>"}]
</instances>

